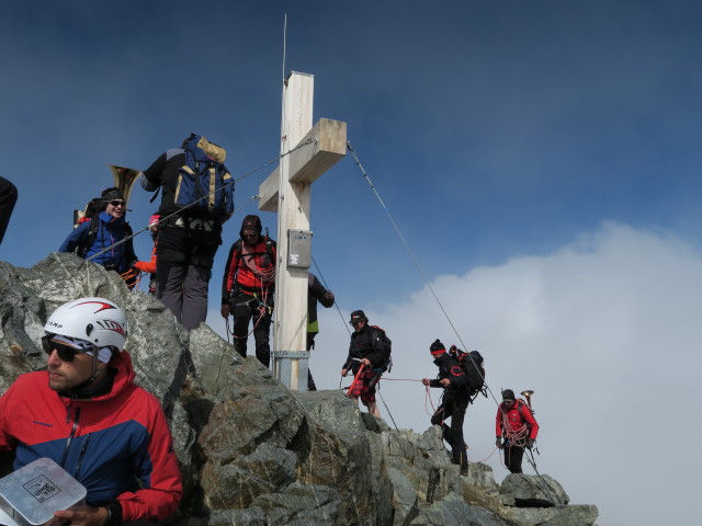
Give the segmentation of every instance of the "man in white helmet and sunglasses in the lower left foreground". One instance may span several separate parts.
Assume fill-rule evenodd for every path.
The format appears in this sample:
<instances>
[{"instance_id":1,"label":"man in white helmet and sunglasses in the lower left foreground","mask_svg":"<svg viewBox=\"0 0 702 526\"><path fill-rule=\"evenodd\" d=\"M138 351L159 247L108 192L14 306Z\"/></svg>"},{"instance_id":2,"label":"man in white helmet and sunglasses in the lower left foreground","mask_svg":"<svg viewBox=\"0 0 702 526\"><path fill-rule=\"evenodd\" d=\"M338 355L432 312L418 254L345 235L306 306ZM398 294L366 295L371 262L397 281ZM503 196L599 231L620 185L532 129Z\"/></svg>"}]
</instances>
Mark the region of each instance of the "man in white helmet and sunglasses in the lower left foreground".
<instances>
[{"instance_id":1,"label":"man in white helmet and sunglasses in the lower left foreground","mask_svg":"<svg viewBox=\"0 0 702 526\"><path fill-rule=\"evenodd\" d=\"M127 320L104 298L64 304L44 325L47 369L20 376L0 398L0 451L13 468L50 458L80 482L87 505L59 523L156 524L182 498L166 414L134 384Z\"/></svg>"}]
</instances>

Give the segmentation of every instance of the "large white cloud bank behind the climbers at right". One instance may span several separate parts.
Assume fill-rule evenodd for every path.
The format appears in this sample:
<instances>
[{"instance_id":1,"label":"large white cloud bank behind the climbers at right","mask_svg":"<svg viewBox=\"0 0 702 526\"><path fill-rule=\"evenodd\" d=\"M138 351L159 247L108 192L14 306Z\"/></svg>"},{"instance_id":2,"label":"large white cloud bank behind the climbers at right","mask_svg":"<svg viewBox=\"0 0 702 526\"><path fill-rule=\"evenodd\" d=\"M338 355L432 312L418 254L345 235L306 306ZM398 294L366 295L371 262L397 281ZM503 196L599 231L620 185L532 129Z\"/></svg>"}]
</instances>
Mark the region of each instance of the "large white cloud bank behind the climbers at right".
<instances>
[{"instance_id":1,"label":"large white cloud bank behind the climbers at right","mask_svg":"<svg viewBox=\"0 0 702 526\"><path fill-rule=\"evenodd\" d=\"M692 506L680 503L694 502L690 479L699 466L700 276L702 254L683 240L608 222L553 254L516 256L431 285L460 340L485 357L495 397L500 388L535 391L537 469L558 480L573 503L598 505L601 526L692 524ZM318 388L339 387L348 315L319 310L310 361ZM435 338L446 345L460 340L427 287L366 315L393 340L385 403L399 427L422 432L440 391L432 389L430 401L419 381L408 380L435 376L428 352ZM222 320L213 311L215 319ZM495 413L491 398L478 399L464 431L471 460L489 457L501 480ZM526 461L524 470L533 473Z\"/></svg>"}]
</instances>

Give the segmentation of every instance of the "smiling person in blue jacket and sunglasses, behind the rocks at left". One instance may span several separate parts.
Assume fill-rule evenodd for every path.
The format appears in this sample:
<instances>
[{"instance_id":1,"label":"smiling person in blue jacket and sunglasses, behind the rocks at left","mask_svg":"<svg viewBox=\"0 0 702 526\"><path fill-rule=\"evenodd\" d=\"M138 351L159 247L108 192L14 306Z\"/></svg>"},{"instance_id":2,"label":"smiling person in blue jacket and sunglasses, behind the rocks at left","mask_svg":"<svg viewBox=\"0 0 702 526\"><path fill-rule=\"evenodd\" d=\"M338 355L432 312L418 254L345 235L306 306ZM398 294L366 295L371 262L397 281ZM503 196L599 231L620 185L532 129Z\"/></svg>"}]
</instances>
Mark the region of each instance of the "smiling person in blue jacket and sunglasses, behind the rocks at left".
<instances>
[{"instance_id":1,"label":"smiling person in blue jacket and sunglasses, behind the rocks at left","mask_svg":"<svg viewBox=\"0 0 702 526\"><path fill-rule=\"evenodd\" d=\"M59 252L73 252L117 274L124 274L137 261L131 239L132 227L125 221L126 201L116 187L101 194L100 213L90 221L81 222L58 248ZM120 243L124 238L127 241ZM127 285L134 286L134 282Z\"/></svg>"}]
</instances>

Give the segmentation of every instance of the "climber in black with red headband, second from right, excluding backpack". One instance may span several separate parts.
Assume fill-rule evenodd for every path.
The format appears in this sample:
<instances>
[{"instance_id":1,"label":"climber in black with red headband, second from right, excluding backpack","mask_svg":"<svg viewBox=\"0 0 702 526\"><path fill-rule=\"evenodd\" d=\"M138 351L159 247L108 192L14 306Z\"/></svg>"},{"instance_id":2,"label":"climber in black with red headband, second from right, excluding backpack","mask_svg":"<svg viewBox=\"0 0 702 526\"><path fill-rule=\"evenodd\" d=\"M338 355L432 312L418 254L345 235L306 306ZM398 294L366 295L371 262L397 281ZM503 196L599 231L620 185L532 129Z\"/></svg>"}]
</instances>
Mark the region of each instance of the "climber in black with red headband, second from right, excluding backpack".
<instances>
[{"instance_id":1,"label":"climber in black with red headband, second from right, excluding backpack","mask_svg":"<svg viewBox=\"0 0 702 526\"><path fill-rule=\"evenodd\" d=\"M423 378L421 382L427 387L443 389L441 404L431 416L432 425L441 425L443 439L451 446L451 459L460 466L461 474L468 474L467 447L463 439L463 421L468 409L471 395L468 392L468 377L456 359L449 353L439 339L429 346L429 352L439 367L435 379ZM451 419L451 425L445 423Z\"/></svg>"}]
</instances>

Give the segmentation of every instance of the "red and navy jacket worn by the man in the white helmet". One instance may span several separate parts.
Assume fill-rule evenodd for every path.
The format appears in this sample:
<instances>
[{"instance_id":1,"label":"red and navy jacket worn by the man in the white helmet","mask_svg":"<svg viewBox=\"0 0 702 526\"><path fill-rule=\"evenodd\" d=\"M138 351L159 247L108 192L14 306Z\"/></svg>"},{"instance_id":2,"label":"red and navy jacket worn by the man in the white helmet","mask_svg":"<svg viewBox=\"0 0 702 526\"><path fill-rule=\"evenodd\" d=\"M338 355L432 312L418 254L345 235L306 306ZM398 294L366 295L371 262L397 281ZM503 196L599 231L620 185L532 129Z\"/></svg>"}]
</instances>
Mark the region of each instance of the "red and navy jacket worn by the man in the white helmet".
<instances>
[{"instance_id":1,"label":"red and navy jacket worn by the man in the white helmet","mask_svg":"<svg viewBox=\"0 0 702 526\"><path fill-rule=\"evenodd\" d=\"M126 351L110 366L112 389L89 400L50 389L46 371L20 376L0 398L0 449L15 450L14 469L53 459L86 487L88 504L116 499L123 521L161 521L182 498L166 414L134 384Z\"/></svg>"}]
</instances>

